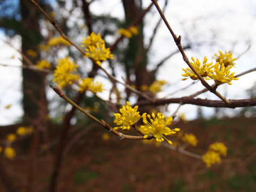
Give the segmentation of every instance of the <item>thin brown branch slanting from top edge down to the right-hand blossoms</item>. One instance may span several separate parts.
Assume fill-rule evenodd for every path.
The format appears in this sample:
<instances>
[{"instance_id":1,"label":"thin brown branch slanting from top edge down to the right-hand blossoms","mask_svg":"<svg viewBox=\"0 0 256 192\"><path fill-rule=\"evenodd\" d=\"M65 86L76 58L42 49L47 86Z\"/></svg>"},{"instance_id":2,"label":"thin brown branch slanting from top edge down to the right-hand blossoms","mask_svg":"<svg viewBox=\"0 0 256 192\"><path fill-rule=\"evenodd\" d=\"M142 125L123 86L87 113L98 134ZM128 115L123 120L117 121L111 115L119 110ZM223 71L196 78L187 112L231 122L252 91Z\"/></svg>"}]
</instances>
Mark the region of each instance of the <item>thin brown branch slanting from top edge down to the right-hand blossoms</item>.
<instances>
[{"instance_id":1,"label":"thin brown branch slanting from top edge down to the right-hand blossoms","mask_svg":"<svg viewBox=\"0 0 256 192\"><path fill-rule=\"evenodd\" d=\"M181 36L177 37L171 26L169 25L169 23L167 22L161 8L159 7L158 3L157 3L157 0L151 0L155 6L156 6L156 9L157 11L159 12L159 14L161 15L166 27L169 29L173 39L174 39L174 42L175 44L177 45L178 49L180 50L180 53L182 55L182 58L183 60L187 63L187 65L189 66L189 68L197 75L198 79L201 81L201 83L206 87L206 89L208 89L210 92L212 92L213 94L217 95L217 97L219 97L222 101L226 102L226 103L229 103L229 101L223 97L219 92L217 92L213 87L211 87L206 81L205 79L196 71L196 69L191 65L191 63L189 62L188 60L188 57L187 55L185 54L184 50L183 50L183 47L181 46Z\"/></svg>"}]
</instances>

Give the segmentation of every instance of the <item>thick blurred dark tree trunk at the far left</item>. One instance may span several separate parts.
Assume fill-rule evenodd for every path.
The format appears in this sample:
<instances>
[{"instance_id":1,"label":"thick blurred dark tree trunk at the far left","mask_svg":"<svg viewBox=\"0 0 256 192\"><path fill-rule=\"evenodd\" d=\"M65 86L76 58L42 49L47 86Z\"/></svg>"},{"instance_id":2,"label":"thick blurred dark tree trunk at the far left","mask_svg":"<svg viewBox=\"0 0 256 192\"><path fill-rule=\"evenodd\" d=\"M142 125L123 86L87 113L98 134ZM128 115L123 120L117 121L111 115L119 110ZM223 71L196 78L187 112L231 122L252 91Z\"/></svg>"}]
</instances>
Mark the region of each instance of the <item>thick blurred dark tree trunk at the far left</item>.
<instances>
[{"instance_id":1,"label":"thick blurred dark tree trunk at the far left","mask_svg":"<svg viewBox=\"0 0 256 192\"><path fill-rule=\"evenodd\" d=\"M37 50L38 44L42 40L39 30L39 12L29 0L20 0L21 26L20 31L22 41L22 53L27 55L27 50ZM27 55L27 57L29 57ZM37 57L29 57L35 64L39 60ZM23 65L28 65L23 60ZM47 101L45 95L45 74L34 70L22 69L22 91L23 91L23 111L25 123L33 122L36 118L45 118L47 115Z\"/></svg>"}]
</instances>

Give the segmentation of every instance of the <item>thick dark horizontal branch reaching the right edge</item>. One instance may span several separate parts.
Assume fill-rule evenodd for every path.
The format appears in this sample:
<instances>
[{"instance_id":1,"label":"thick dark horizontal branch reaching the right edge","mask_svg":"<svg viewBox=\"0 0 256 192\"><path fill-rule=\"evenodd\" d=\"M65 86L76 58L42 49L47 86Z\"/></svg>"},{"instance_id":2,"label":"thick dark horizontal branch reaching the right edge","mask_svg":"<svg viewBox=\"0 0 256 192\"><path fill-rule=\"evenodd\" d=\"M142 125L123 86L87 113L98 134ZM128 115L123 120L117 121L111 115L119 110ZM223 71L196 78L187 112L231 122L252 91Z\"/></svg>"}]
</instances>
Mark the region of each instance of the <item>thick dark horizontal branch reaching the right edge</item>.
<instances>
[{"instance_id":1,"label":"thick dark horizontal branch reaching the right edge","mask_svg":"<svg viewBox=\"0 0 256 192\"><path fill-rule=\"evenodd\" d=\"M135 105L138 106L159 106L165 105L169 103L182 103L191 104L197 106L205 106L205 107L225 107L225 108L236 108L236 107L252 107L256 106L256 98L250 99L239 99L239 100L229 100L229 104L220 101L220 100L208 100L208 99L193 99L189 97L182 98L171 98L171 99L156 99L155 102L150 101L140 101Z\"/></svg>"}]
</instances>

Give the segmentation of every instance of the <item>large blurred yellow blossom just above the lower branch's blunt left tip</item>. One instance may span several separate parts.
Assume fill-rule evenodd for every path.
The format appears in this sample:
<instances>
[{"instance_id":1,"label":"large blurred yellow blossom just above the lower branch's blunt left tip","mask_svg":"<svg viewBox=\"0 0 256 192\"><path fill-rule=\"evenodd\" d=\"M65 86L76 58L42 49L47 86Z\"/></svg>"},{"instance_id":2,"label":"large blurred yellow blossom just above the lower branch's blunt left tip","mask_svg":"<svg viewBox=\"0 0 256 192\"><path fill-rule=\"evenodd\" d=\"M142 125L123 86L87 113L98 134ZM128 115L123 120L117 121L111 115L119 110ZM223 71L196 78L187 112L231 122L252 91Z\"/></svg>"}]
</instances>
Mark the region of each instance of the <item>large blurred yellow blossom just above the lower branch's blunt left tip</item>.
<instances>
[{"instance_id":1,"label":"large blurred yellow blossom just above the lower branch's blunt left tip","mask_svg":"<svg viewBox=\"0 0 256 192\"><path fill-rule=\"evenodd\" d=\"M66 87L68 84L76 82L79 77L74 72L77 71L77 65L70 58L59 59L58 65L54 70L53 82L57 82L60 87Z\"/></svg>"}]
</instances>

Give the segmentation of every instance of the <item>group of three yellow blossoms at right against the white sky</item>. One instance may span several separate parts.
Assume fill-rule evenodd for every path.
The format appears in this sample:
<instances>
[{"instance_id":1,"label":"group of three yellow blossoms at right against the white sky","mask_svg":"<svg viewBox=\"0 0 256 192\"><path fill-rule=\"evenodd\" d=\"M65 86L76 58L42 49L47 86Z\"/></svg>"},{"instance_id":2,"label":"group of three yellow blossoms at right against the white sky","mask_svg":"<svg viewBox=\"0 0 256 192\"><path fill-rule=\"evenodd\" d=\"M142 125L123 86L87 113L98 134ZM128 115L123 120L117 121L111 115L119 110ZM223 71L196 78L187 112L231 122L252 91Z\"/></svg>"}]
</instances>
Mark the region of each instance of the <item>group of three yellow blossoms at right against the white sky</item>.
<instances>
[{"instance_id":1,"label":"group of three yellow blossoms at right against the white sky","mask_svg":"<svg viewBox=\"0 0 256 192\"><path fill-rule=\"evenodd\" d=\"M210 80L213 79L215 84L219 85L222 83L228 83L231 85L232 80L237 80L238 78L234 77L235 73L230 73L230 69L235 64L233 61L236 60L236 58L233 58L233 54L229 52L225 52L223 54L221 51L219 51L220 55L215 54L216 63L215 65L211 63L206 63L207 58L204 57L203 65L201 66L201 62L197 59L195 61L194 58L191 58L194 62L191 62L191 65L196 69L196 71L202 76L207 77L205 79ZM212 70L214 68L214 70ZM197 80L197 75L190 69L182 69L185 71L185 74L182 74L182 76L190 77L193 80ZM182 80L186 80L187 78L183 78Z\"/></svg>"}]
</instances>

